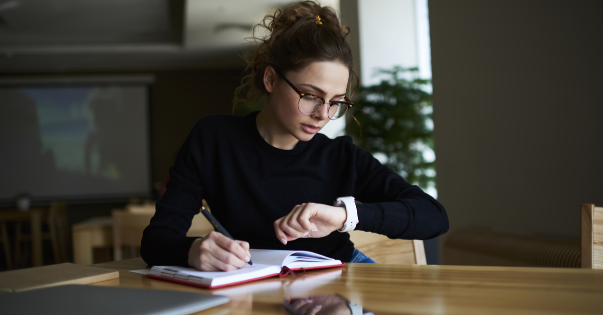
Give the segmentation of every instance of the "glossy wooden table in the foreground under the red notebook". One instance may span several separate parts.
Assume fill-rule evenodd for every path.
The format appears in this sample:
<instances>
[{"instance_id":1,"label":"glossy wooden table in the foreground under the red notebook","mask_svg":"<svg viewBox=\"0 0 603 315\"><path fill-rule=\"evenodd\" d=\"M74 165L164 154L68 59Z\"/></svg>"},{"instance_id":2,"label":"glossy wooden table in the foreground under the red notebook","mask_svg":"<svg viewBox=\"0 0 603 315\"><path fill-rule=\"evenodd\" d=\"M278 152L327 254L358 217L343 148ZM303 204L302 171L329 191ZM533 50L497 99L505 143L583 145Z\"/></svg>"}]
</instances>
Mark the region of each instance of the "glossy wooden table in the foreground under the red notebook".
<instances>
[{"instance_id":1,"label":"glossy wooden table in the foreground under the red notebook","mask_svg":"<svg viewBox=\"0 0 603 315\"><path fill-rule=\"evenodd\" d=\"M375 314L601 314L603 270L524 267L346 264L233 287L206 290L148 279L141 258L93 265L119 270L95 285L230 296L197 314L289 314L289 297L339 293ZM319 313L320 314L320 313Z\"/></svg>"}]
</instances>

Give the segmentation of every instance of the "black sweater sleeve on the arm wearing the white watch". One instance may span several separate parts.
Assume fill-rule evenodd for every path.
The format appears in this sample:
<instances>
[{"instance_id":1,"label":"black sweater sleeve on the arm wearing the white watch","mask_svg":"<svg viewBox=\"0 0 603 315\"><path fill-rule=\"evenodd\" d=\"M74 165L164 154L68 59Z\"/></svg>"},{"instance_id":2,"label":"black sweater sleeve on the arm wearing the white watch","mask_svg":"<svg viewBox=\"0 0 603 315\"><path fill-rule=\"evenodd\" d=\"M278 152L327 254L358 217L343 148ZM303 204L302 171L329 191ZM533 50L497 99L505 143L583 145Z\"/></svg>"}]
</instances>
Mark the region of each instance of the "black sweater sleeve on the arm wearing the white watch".
<instances>
[{"instance_id":1,"label":"black sweater sleeve on the arm wearing the white watch","mask_svg":"<svg viewBox=\"0 0 603 315\"><path fill-rule=\"evenodd\" d=\"M350 144L356 165L356 229L390 238L428 240L448 231L444 207L368 151Z\"/></svg>"}]
</instances>

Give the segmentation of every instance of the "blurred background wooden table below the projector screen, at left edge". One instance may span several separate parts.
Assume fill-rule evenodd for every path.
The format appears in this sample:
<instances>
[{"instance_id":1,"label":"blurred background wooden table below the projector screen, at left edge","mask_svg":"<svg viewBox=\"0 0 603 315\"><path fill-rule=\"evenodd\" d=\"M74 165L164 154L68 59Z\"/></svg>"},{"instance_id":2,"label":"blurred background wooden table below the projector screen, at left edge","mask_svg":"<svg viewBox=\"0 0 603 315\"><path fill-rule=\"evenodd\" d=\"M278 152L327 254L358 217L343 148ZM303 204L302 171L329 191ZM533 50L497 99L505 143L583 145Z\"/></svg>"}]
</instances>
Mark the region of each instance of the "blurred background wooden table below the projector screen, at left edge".
<instances>
[{"instance_id":1,"label":"blurred background wooden table below the projector screen, at left edge","mask_svg":"<svg viewBox=\"0 0 603 315\"><path fill-rule=\"evenodd\" d=\"M17 209L0 210L0 221L29 221L31 226L31 258L34 267L43 265L42 256L42 217L46 208L31 208L28 211ZM21 244L17 244L21 246Z\"/></svg>"}]
</instances>

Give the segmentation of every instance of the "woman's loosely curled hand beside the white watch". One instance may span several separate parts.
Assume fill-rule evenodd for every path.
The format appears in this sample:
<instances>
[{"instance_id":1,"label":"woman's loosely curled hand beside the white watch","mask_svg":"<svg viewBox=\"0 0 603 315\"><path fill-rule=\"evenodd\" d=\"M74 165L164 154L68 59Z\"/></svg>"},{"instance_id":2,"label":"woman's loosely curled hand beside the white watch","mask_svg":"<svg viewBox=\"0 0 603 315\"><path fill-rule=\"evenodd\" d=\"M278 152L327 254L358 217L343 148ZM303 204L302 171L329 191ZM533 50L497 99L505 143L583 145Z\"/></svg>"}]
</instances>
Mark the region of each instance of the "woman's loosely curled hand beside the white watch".
<instances>
[{"instance_id":1,"label":"woman's loosely curled hand beside the white watch","mask_svg":"<svg viewBox=\"0 0 603 315\"><path fill-rule=\"evenodd\" d=\"M331 232L342 229L346 218L345 207L302 203L285 217L274 221L274 232L280 242L286 245L288 241L298 238L326 237Z\"/></svg>"}]
</instances>

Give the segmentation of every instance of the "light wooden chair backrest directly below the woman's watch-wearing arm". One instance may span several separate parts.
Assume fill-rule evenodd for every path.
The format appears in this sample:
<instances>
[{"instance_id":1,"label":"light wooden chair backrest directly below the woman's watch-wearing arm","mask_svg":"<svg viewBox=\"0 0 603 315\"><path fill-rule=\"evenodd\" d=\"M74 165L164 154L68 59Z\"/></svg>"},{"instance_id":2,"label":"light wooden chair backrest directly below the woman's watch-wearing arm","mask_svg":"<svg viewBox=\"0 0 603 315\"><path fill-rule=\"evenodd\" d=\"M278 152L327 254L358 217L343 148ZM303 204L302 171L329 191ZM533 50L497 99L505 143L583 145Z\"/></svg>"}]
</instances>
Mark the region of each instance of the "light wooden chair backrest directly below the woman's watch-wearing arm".
<instances>
[{"instance_id":1,"label":"light wooden chair backrest directly below the woman's watch-wearing arm","mask_svg":"<svg viewBox=\"0 0 603 315\"><path fill-rule=\"evenodd\" d=\"M378 264L426 265L425 247L420 240L392 240L385 235L350 231L350 240Z\"/></svg>"}]
</instances>

